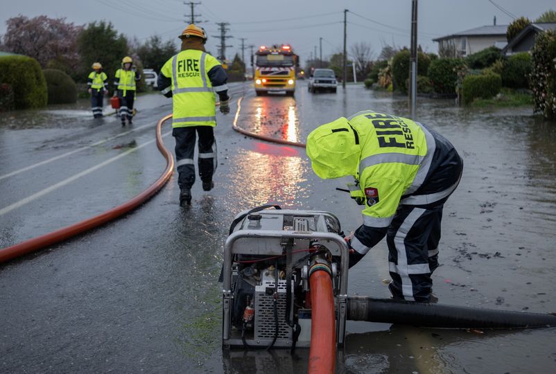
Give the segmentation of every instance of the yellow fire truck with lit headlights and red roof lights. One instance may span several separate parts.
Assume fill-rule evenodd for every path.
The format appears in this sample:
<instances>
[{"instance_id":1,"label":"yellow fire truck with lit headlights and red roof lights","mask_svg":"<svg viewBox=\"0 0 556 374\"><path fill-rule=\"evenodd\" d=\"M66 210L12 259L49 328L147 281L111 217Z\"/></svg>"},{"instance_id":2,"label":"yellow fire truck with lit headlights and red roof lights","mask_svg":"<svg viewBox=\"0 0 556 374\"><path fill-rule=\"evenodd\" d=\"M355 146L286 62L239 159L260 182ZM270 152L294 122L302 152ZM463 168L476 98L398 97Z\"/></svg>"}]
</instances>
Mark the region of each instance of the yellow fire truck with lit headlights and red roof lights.
<instances>
[{"instance_id":1,"label":"yellow fire truck with lit headlights and red roof lights","mask_svg":"<svg viewBox=\"0 0 556 374\"><path fill-rule=\"evenodd\" d=\"M255 92L257 96L269 92L295 92L295 68L299 60L290 45L261 46L255 53Z\"/></svg>"}]
</instances>

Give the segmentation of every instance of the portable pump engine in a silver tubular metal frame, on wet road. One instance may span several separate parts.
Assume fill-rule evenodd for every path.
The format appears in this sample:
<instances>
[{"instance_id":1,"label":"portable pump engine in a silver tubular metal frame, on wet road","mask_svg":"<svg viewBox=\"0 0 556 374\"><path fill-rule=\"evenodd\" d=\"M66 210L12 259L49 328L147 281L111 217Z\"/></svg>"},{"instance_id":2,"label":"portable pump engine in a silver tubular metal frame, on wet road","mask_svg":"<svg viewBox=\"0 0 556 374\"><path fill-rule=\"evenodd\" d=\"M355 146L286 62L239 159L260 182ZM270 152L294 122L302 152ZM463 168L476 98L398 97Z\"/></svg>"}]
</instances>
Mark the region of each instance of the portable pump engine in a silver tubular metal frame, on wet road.
<instances>
[{"instance_id":1,"label":"portable pump engine in a silver tubular metal frame, on wet road","mask_svg":"<svg viewBox=\"0 0 556 374\"><path fill-rule=\"evenodd\" d=\"M262 206L238 214L224 249L223 345L309 346L314 269L331 276L336 342L343 344L347 265L348 247L331 213Z\"/></svg>"}]
</instances>

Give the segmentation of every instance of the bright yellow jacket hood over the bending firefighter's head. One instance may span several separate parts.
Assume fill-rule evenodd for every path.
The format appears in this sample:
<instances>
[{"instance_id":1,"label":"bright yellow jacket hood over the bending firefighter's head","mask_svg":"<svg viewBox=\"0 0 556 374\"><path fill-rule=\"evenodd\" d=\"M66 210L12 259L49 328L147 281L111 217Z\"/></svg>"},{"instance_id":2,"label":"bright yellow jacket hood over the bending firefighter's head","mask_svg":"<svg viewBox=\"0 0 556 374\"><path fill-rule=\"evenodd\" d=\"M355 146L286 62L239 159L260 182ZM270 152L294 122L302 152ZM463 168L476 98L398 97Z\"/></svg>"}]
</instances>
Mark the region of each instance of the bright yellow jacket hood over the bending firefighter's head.
<instances>
[{"instance_id":1,"label":"bright yellow jacket hood over the bending firefighter's head","mask_svg":"<svg viewBox=\"0 0 556 374\"><path fill-rule=\"evenodd\" d=\"M360 136L347 118L317 127L307 138L306 152L322 179L356 177L361 156Z\"/></svg>"}]
</instances>

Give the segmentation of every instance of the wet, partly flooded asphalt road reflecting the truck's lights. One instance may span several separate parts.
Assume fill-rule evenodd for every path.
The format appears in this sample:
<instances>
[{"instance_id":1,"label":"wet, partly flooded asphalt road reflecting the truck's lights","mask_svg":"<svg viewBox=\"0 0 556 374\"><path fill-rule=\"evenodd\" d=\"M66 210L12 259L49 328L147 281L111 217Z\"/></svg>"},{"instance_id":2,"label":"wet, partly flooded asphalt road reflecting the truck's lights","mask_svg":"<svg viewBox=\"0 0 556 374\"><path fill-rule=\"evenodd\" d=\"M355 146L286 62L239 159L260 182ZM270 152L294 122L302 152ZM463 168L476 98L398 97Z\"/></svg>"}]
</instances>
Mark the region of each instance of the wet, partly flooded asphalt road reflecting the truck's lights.
<instances>
[{"instance_id":1,"label":"wet, partly flooded asphalt road reflecting the truck's lights","mask_svg":"<svg viewBox=\"0 0 556 374\"><path fill-rule=\"evenodd\" d=\"M241 90L234 85L235 98ZM435 295L453 305L555 312L555 124L539 121L529 108L469 110L450 100L424 99L419 104L419 121L446 136L465 162L460 186L444 208ZM129 133L114 118L92 121L86 106L82 112L56 107L1 114L0 247L105 211L157 179L164 159L154 142L139 147L154 139L170 102L141 96L138 107ZM247 87L238 125L304 141L317 125L363 109L408 116L403 97L356 86L313 95L302 83L295 99L255 97ZM0 371L306 371L307 350L290 357L279 350L271 355L220 348L216 279L229 223L245 208L279 202L331 211L349 231L360 224L358 206L334 190L342 181L313 175L304 150L247 139L232 130L232 119L218 114L216 188L203 193L196 184L191 208L178 206L174 176L123 219L0 265ZM173 148L171 136L164 141ZM134 147L136 152L41 195ZM17 205L30 196L35 198ZM388 297L385 278L387 249L381 242L351 269L349 294ZM338 355L342 373L556 368L555 329L480 333L349 322L347 332Z\"/></svg>"}]
</instances>

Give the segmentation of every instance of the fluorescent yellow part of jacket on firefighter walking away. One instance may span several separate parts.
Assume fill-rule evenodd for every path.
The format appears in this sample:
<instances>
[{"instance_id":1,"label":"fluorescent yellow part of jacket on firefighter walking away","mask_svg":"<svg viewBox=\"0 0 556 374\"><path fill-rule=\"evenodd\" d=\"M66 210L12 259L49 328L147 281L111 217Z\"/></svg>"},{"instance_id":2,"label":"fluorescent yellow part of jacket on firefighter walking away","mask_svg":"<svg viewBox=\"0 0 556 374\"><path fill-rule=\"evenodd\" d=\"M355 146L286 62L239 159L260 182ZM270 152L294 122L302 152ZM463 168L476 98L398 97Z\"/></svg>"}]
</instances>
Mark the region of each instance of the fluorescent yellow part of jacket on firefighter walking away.
<instances>
[{"instance_id":1,"label":"fluorescent yellow part of jacket on firefighter walking away","mask_svg":"<svg viewBox=\"0 0 556 374\"><path fill-rule=\"evenodd\" d=\"M216 96L208 73L218 65L209 53L186 49L162 66L161 73L172 80L172 127L216 126Z\"/></svg>"}]
</instances>

